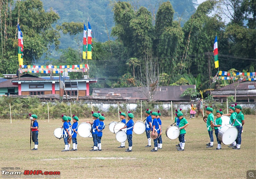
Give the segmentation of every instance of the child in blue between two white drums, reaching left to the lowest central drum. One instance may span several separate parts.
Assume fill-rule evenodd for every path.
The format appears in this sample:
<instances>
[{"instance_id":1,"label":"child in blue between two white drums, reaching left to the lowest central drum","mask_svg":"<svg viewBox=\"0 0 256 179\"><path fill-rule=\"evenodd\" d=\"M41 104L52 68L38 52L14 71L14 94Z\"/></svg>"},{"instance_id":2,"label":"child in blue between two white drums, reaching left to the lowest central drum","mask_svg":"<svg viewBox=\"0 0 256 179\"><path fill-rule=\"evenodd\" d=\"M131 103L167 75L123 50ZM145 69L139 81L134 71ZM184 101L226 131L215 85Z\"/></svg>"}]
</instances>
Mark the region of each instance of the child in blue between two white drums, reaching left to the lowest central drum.
<instances>
[{"instance_id":1,"label":"child in blue between two white drums, reaching left to the lowest central drum","mask_svg":"<svg viewBox=\"0 0 256 179\"><path fill-rule=\"evenodd\" d=\"M125 152L132 152L132 129L133 129L133 125L134 125L134 122L132 119L134 118L134 115L129 111L127 116L128 116L127 118L129 121L123 128L120 128L120 130L127 128L126 134L127 134L129 148L126 149Z\"/></svg>"}]
</instances>

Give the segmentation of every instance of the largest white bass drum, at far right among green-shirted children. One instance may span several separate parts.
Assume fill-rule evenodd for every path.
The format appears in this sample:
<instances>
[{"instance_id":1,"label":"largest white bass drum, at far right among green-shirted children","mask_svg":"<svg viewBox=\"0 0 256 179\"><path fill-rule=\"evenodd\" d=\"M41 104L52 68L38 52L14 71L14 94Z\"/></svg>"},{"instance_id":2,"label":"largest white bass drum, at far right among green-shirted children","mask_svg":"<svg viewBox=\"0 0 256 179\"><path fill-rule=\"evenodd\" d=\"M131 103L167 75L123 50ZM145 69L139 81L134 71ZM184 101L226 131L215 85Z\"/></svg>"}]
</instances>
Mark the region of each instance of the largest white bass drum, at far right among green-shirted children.
<instances>
[{"instance_id":1,"label":"largest white bass drum, at far right among green-shirted children","mask_svg":"<svg viewBox=\"0 0 256 179\"><path fill-rule=\"evenodd\" d=\"M238 130L236 127L231 126L231 124L224 125L218 134L218 139L225 145L232 144L238 135Z\"/></svg>"}]
</instances>

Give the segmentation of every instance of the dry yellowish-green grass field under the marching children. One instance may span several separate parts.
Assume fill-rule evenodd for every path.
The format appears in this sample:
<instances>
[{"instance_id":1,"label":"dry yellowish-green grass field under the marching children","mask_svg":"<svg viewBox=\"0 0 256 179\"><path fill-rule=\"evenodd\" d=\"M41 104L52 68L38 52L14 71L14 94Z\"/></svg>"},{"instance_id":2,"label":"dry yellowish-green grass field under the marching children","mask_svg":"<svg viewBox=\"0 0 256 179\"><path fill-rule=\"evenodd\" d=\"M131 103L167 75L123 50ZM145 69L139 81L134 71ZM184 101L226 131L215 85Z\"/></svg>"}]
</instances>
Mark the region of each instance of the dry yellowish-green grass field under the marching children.
<instances>
[{"instance_id":1,"label":"dry yellowish-green grass field under the marching children","mask_svg":"<svg viewBox=\"0 0 256 179\"><path fill-rule=\"evenodd\" d=\"M133 134L132 152L124 152L128 148L127 141L125 148L117 148L120 143L109 131L108 124L118 119L108 117L104 121L102 151L89 151L93 145L92 138L78 135L78 151L60 152L64 142L55 138L53 131L60 127L61 119L50 120L49 123L38 120L38 150L30 151L30 120L14 120L12 124L2 120L0 165L20 167L21 171L60 171L61 178L246 178L247 170L256 169L256 116L245 115L244 119L241 150L232 150L222 144L222 150L215 151L215 134L214 147L206 148L205 144L209 142L206 124L202 118L195 118L188 119L185 151L180 152L175 149L178 138L170 140L165 135L165 129L174 122L170 118L161 118L163 149L158 152L150 152L153 147L145 147L148 143L145 133ZM79 124L87 120L80 119ZM154 145L153 140L151 144ZM72 146L71 143L70 149ZM31 148L34 148L33 143Z\"/></svg>"}]
</instances>

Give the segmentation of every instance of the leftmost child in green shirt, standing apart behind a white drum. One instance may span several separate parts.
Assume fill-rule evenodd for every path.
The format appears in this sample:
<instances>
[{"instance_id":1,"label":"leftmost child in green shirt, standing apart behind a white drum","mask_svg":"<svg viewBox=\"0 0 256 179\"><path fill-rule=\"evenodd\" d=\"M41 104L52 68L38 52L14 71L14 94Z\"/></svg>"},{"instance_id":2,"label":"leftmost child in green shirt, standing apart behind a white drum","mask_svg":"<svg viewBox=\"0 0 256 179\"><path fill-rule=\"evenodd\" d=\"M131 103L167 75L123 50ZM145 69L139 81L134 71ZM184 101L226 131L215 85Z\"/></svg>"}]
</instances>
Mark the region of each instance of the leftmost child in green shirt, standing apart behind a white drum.
<instances>
[{"instance_id":1,"label":"leftmost child in green shirt, standing apart behind a white drum","mask_svg":"<svg viewBox=\"0 0 256 179\"><path fill-rule=\"evenodd\" d=\"M184 118L183 113L178 113L177 117L180 119L180 124L179 124L179 129L180 129L179 141L181 142L181 146L178 149L178 151L184 151L184 147L185 147L184 136L186 134L185 127L188 126L188 121Z\"/></svg>"}]
</instances>

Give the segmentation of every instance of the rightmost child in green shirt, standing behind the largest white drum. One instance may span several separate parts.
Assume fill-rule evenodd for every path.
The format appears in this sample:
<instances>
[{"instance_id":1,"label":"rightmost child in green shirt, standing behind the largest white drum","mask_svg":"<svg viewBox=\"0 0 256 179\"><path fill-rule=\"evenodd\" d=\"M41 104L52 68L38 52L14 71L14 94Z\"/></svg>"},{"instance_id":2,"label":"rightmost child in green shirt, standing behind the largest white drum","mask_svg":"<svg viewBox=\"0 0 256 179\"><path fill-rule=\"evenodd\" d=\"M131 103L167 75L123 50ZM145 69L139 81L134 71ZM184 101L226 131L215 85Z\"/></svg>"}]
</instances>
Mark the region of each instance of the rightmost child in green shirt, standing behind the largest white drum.
<instances>
[{"instance_id":1,"label":"rightmost child in green shirt, standing behind the largest white drum","mask_svg":"<svg viewBox=\"0 0 256 179\"><path fill-rule=\"evenodd\" d=\"M236 138L236 147L233 147L232 149L235 150L240 150L240 145L242 142L242 138L241 138L241 134L242 134L242 130L243 130L243 125L244 125L244 114L241 112L242 107L240 105L235 104L235 111L236 111L236 119L234 120L234 126L237 128L238 130L238 135Z\"/></svg>"}]
</instances>

